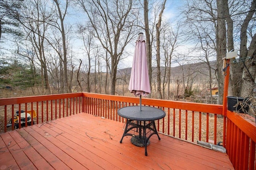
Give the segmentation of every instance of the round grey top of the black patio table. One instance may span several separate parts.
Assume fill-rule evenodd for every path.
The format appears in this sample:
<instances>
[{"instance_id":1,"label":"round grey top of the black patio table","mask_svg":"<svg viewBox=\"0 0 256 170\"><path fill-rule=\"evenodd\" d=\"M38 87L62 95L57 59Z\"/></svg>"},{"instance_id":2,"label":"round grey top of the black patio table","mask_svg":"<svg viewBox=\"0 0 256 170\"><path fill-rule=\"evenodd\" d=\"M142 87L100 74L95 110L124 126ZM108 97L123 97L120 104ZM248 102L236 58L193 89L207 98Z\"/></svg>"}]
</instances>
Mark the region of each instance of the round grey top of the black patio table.
<instances>
[{"instance_id":1,"label":"round grey top of the black patio table","mask_svg":"<svg viewBox=\"0 0 256 170\"><path fill-rule=\"evenodd\" d=\"M137 120L137 121L154 121L162 119L165 116L165 112L162 109L149 106L127 106L118 109L118 115L121 117Z\"/></svg>"}]
</instances>

